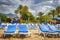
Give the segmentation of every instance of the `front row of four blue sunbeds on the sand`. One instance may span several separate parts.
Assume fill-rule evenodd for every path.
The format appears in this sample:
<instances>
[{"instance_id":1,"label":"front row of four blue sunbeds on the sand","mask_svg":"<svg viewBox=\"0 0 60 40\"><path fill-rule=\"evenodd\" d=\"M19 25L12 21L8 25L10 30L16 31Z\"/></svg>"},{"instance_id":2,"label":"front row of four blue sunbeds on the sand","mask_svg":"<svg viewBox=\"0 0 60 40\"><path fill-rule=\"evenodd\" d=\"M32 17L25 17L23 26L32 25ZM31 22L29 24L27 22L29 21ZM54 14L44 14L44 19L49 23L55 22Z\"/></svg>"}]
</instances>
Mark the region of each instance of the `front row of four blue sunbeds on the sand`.
<instances>
[{"instance_id":1,"label":"front row of four blue sunbeds on the sand","mask_svg":"<svg viewBox=\"0 0 60 40\"><path fill-rule=\"evenodd\" d=\"M4 25L2 25L4 26ZM4 31L4 36L6 34L16 34L16 30L18 29L18 34L28 34L31 36L31 32L28 31L28 27L26 24L9 24L9 25L5 25L7 26L7 30ZM36 25L35 25L36 26ZM32 26L33 27L33 26ZM52 24L39 24L38 25L39 28L39 34L43 33L44 36L46 36L46 34L59 34L60 30L58 30L54 25Z\"/></svg>"}]
</instances>

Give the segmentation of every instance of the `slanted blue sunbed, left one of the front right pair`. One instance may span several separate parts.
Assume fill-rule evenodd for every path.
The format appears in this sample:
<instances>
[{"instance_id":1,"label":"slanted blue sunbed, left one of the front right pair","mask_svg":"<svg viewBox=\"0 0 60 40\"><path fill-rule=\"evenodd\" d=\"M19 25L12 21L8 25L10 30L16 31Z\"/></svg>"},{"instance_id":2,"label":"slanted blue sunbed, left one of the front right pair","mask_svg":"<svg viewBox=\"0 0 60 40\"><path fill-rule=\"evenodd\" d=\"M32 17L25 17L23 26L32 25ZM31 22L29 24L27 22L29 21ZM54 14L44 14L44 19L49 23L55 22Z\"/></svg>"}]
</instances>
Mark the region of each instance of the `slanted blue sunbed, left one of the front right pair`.
<instances>
[{"instance_id":1,"label":"slanted blue sunbed, left one of the front right pair","mask_svg":"<svg viewBox=\"0 0 60 40\"><path fill-rule=\"evenodd\" d=\"M54 28L52 28L52 29L49 28L48 25L44 25L44 24L43 25L41 25L41 24L39 25L39 31L42 32L44 34L44 36L46 36L47 34L58 34L56 29L54 29ZM40 34L40 32L39 32L39 34Z\"/></svg>"}]
</instances>

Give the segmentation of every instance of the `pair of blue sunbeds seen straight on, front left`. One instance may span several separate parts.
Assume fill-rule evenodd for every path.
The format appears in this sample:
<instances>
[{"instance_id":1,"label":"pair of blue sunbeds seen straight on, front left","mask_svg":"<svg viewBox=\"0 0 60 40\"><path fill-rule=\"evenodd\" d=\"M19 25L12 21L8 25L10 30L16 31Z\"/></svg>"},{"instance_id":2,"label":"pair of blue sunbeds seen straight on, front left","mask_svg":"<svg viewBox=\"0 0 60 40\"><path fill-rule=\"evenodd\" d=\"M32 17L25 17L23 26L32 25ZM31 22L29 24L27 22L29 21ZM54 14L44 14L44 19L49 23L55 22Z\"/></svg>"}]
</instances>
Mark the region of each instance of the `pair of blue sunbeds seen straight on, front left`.
<instances>
[{"instance_id":1,"label":"pair of blue sunbeds seen straight on, front left","mask_svg":"<svg viewBox=\"0 0 60 40\"><path fill-rule=\"evenodd\" d=\"M11 24L11 25L7 25L7 28L4 31L4 37L5 37L5 35L16 34L16 30L18 30L18 34L25 34L25 35L31 36L31 33L28 31L27 25L25 25L25 24L19 24L19 25Z\"/></svg>"}]
</instances>

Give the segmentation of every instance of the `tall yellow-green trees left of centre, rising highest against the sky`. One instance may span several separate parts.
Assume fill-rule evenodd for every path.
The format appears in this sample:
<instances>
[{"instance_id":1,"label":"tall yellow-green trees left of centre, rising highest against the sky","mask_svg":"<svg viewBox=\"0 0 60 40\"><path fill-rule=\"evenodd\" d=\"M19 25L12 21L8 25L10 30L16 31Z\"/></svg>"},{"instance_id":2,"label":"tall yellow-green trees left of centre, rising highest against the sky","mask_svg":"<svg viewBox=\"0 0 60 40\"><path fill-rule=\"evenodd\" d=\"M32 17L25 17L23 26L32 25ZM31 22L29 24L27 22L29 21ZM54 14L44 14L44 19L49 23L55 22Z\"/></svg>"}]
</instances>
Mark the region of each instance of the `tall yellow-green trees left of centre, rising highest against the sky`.
<instances>
[{"instance_id":1,"label":"tall yellow-green trees left of centre, rising highest against the sky","mask_svg":"<svg viewBox=\"0 0 60 40\"><path fill-rule=\"evenodd\" d=\"M23 20L34 20L34 16L28 10L28 6L19 5L19 7L15 10L15 13L20 13L21 19Z\"/></svg>"}]
</instances>

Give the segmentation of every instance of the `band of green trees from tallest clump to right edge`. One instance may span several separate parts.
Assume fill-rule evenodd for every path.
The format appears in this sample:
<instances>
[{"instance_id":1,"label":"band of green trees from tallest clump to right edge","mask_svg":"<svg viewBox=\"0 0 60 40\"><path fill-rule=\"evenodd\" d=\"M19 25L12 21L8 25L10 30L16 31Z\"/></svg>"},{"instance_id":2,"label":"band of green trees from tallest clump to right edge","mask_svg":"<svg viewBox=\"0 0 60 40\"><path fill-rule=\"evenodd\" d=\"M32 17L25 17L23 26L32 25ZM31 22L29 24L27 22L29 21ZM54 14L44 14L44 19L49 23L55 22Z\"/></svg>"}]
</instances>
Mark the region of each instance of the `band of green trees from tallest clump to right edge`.
<instances>
[{"instance_id":1,"label":"band of green trees from tallest clump to right edge","mask_svg":"<svg viewBox=\"0 0 60 40\"><path fill-rule=\"evenodd\" d=\"M15 13L20 13L21 18L26 21L35 21L38 20L38 22L51 20L52 17L55 17L57 15L60 17L60 6L58 6L56 9L50 10L50 12L47 13L47 15L44 15L45 13L39 12L38 17L34 17L31 12L29 12L29 8L27 5L19 5L19 7L15 10ZM44 15L44 16L43 16Z\"/></svg>"}]
</instances>

